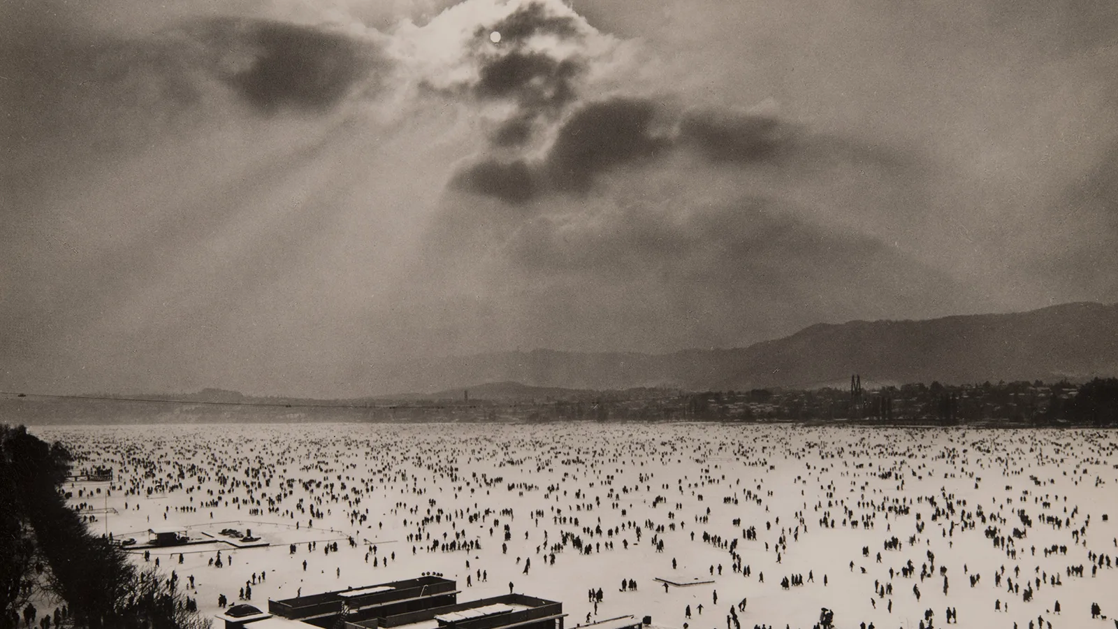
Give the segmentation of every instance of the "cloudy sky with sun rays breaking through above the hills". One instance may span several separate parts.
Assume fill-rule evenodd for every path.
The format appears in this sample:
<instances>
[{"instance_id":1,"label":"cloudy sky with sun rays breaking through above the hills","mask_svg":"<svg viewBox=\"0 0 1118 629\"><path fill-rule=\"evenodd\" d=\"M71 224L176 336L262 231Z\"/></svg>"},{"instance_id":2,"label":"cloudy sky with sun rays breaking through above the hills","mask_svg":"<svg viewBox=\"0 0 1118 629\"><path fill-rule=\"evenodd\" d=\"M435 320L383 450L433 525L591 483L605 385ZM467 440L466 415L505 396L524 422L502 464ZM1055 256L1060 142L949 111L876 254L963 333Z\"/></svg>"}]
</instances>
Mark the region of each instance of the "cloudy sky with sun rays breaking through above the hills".
<instances>
[{"instance_id":1,"label":"cloudy sky with sun rays breaking through above the hills","mask_svg":"<svg viewBox=\"0 0 1118 629\"><path fill-rule=\"evenodd\" d=\"M0 389L1118 301L1111 0L0 0Z\"/></svg>"}]
</instances>

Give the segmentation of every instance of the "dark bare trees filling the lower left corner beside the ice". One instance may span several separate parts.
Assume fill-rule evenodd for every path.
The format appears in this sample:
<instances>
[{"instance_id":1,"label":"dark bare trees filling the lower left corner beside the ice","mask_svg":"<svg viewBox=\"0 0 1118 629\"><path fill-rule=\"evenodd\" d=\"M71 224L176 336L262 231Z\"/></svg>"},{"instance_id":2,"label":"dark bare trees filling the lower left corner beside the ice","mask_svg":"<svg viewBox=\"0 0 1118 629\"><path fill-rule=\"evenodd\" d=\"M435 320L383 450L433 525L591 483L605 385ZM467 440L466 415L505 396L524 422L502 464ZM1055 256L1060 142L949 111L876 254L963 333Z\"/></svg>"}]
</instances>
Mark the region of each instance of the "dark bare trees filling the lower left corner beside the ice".
<instances>
[{"instance_id":1,"label":"dark bare trees filling the lower left corner beside the ice","mask_svg":"<svg viewBox=\"0 0 1118 629\"><path fill-rule=\"evenodd\" d=\"M0 628L207 627L176 574L136 569L66 505L70 460L61 444L0 424ZM64 612L37 609L56 599Z\"/></svg>"}]
</instances>

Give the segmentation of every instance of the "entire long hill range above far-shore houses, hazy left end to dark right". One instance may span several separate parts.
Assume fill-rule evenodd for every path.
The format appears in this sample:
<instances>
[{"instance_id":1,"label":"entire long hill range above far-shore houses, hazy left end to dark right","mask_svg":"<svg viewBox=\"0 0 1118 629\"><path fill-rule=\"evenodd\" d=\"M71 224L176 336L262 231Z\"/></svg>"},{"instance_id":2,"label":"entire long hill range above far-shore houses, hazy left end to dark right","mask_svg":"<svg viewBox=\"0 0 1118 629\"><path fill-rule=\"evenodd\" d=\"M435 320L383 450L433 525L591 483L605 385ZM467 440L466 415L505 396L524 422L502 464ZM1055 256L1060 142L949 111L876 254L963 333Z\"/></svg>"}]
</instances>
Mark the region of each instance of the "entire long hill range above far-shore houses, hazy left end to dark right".
<instances>
[{"instance_id":1,"label":"entire long hill range above far-shore houses, hazy left end to dark right","mask_svg":"<svg viewBox=\"0 0 1118 629\"><path fill-rule=\"evenodd\" d=\"M673 354L538 349L375 366L376 394L436 392L468 383L624 389L743 389L871 383L1081 379L1118 375L1118 304L1068 303L1029 312L921 321L819 323L738 349Z\"/></svg>"}]
</instances>

